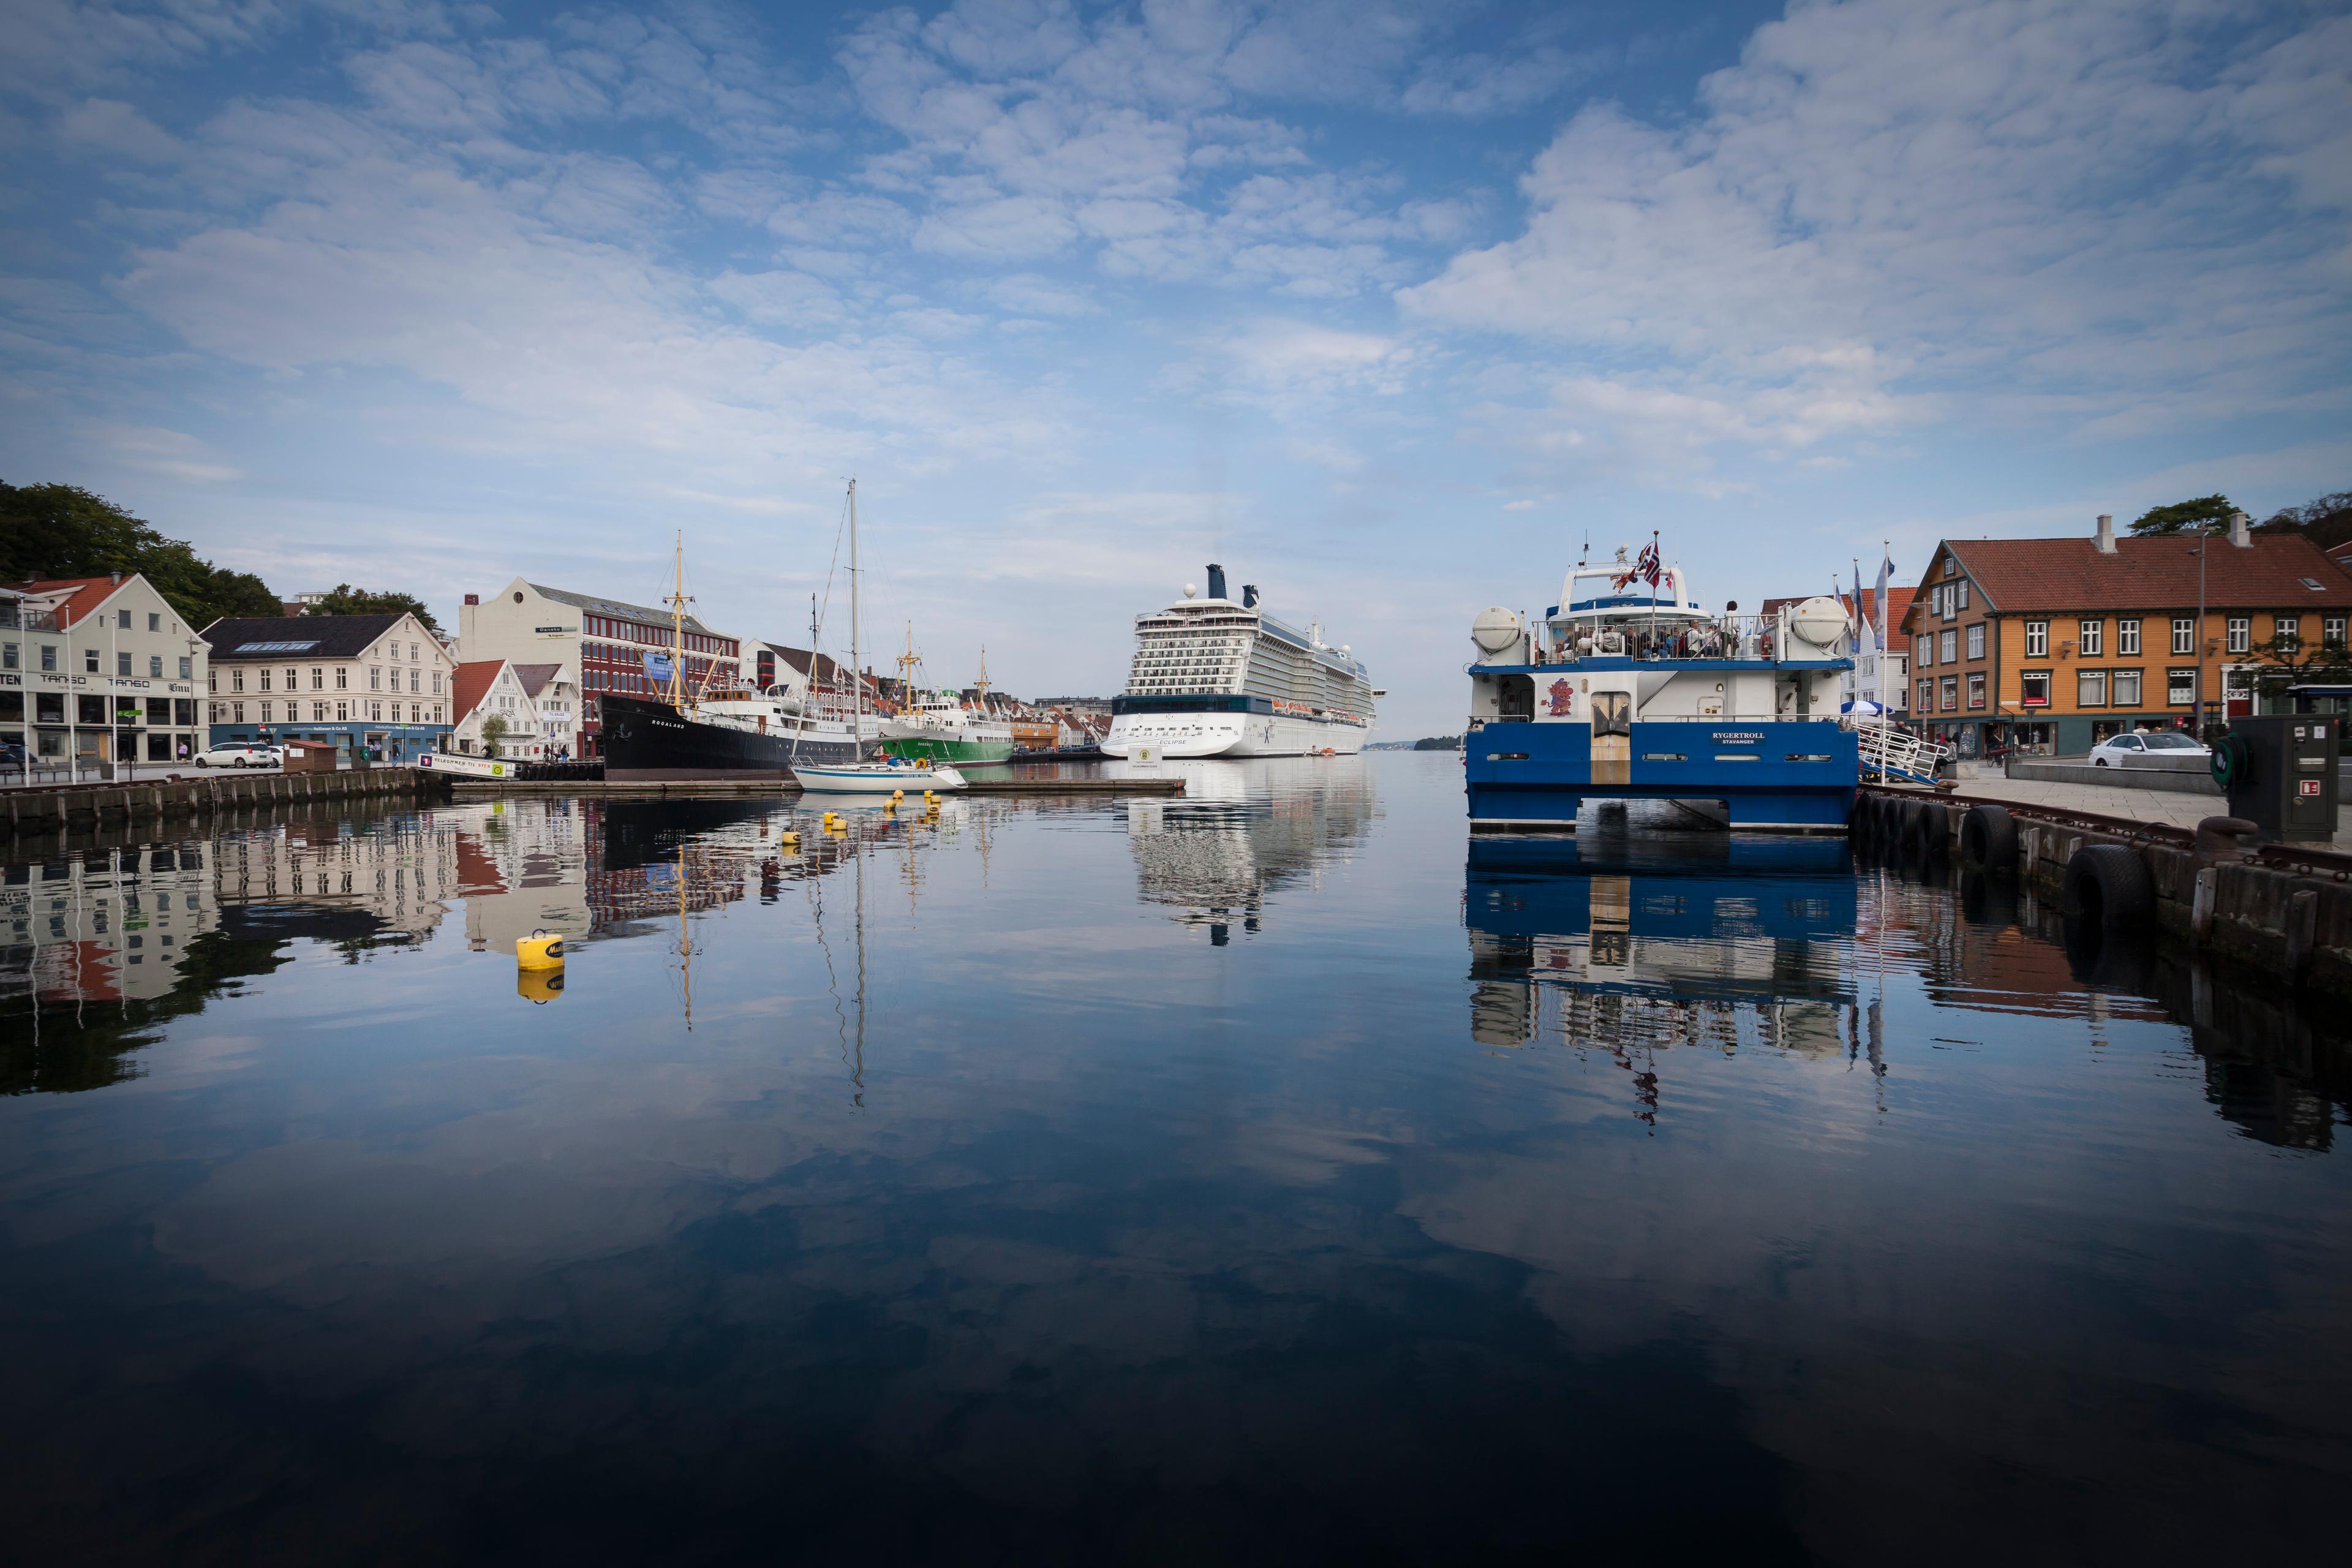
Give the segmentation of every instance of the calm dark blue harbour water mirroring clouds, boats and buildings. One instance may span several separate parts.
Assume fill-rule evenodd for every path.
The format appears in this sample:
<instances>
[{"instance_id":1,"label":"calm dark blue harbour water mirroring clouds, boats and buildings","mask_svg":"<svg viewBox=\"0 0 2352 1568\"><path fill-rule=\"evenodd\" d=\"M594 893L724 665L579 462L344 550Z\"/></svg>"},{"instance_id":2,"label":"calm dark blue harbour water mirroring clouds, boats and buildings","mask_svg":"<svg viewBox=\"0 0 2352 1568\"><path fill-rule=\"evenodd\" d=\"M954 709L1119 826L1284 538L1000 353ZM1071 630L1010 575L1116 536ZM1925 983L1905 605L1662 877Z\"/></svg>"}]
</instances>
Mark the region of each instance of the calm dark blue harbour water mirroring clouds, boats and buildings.
<instances>
[{"instance_id":1,"label":"calm dark blue harbour water mirroring clouds, boats and buildings","mask_svg":"<svg viewBox=\"0 0 2352 1568\"><path fill-rule=\"evenodd\" d=\"M1844 844L1472 846L1449 755L1192 778L7 865L9 1554L2340 1549L2333 1018Z\"/></svg>"}]
</instances>

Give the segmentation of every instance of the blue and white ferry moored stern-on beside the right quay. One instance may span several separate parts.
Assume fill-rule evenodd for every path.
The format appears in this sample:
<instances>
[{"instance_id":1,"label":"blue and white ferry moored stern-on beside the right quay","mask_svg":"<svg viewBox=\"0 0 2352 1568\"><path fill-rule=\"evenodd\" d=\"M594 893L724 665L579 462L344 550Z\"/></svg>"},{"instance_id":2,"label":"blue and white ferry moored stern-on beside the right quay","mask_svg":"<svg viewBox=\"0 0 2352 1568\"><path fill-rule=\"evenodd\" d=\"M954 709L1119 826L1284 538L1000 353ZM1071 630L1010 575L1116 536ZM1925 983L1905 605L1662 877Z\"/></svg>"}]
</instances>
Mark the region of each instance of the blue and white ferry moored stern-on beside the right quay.
<instances>
[{"instance_id":1,"label":"blue and white ferry moored stern-on beside the right quay","mask_svg":"<svg viewBox=\"0 0 2352 1568\"><path fill-rule=\"evenodd\" d=\"M1846 609L1731 611L1700 609L1682 567L1651 552L1628 567L1623 550L1569 571L1541 623L1479 611L1470 827L1573 832L1588 799L1679 799L1729 827L1844 832L1858 783L1839 724Z\"/></svg>"}]
</instances>

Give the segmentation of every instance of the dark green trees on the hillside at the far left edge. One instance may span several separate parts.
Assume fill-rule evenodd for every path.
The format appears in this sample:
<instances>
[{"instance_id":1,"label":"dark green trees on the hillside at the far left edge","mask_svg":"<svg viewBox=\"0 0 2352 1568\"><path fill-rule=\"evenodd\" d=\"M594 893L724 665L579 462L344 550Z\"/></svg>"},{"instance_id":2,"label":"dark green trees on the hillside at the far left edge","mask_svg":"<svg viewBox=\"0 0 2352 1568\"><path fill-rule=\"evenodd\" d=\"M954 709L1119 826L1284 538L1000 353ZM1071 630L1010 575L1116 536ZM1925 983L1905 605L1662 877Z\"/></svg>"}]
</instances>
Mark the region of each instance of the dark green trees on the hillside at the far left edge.
<instances>
[{"instance_id":1,"label":"dark green trees on the hillside at the far left edge","mask_svg":"<svg viewBox=\"0 0 2352 1568\"><path fill-rule=\"evenodd\" d=\"M191 630L221 616L275 616L252 571L226 571L143 517L78 484L0 482L0 581L139 571Z\"/></svg>"}]
</instances>

